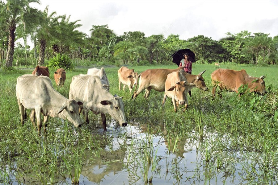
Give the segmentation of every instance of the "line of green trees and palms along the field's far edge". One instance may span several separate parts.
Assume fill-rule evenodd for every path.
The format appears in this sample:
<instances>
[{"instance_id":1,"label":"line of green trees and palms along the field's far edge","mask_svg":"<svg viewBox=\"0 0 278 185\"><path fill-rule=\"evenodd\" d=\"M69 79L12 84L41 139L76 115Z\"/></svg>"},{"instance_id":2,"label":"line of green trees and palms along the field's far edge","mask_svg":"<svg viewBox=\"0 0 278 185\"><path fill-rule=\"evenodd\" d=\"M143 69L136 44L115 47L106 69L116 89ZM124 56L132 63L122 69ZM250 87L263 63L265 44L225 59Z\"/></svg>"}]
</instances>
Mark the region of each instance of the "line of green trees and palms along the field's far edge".
<instances>
[{"instance_id":1,"label":"line of green trees and palms along the field's far edge","mask_svg":"<svg viewBox=\"0 0 278 185\"><path fill-rule=\"evenodd\" d=\"M237 64L267 65L278 62L278 35L241 31L226 33L219 41L198 35L182 40L179 35L151 35L141 31L127 31L116 35L108 25L92 25L91 35L78 31L82 25L70 21L70 16L57 15L30 6L39 0L0 0L0 66L25 64L44 65L59 55L83 64L169 64L172 54L190 48L197 63L233 62ZM30 37L34 48L27 45ZM24 46L17 39L23 39Z\"/></svg>"}]
</instances>

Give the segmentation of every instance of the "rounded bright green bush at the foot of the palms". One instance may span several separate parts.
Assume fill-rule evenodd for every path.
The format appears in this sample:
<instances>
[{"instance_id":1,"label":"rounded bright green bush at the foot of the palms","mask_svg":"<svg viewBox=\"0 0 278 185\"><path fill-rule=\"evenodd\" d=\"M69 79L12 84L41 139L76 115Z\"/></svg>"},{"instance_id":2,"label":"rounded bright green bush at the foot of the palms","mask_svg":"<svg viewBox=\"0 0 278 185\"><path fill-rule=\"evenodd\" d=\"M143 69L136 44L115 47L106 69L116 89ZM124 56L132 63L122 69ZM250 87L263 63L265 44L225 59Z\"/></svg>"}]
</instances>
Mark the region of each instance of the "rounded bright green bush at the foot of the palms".
<instances>
[{"instance_id":1,"label":"rounded bright green bush at the foot of the palms","mask_svg":"<svg viewBox=\"0 0 278 185\"><path fill-rule=\"evenodd\" d=\"M63 55L60 53L58 53L56 56L54 56L49 60L47 67L53 69L58 69L58 68L64 68L67 70L74 69L74 65L70 57L68 55Z\"/></svg>"}]
</instances>

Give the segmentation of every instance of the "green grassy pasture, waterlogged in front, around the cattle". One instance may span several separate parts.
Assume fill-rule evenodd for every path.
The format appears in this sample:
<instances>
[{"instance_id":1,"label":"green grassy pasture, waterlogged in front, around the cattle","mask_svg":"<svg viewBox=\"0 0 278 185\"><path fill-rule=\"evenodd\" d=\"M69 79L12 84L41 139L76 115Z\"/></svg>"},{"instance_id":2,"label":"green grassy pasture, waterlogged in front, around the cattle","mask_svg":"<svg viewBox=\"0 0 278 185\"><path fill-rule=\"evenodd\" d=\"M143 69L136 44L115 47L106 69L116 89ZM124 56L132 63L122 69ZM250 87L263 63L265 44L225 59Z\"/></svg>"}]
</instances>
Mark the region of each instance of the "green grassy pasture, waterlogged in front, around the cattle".
<instances>
[{"instance_id":1,"label":"green grassy pasture, waterlogged in front, around the cattle","mask_svg":"<svg viewBox=\"0 0 278 185\"><path fill-rule=\"evenodd\" d=\"M87 69L93 67L96 66L67 71L64 87L56 86L53 77L55 70L50 70L53 87L68 98L72 76L86 74ZM177 66L127 67L140 73L151 68ZM125 91L119 90L119 67L104 68L110 92L123 97L129 124L136 124L136 127L141 128L140 133L146 137L134 138L124 128L113 125L113 121L108 123L112 124L112 130L120 131L116 134L111 130L104 133L99 117L93 113L89 114L90 124L78 129L68 121L50 118L47 135L42 131L41 136L38 136L28 116L25 125L21 125L15 96L17 77L31 74L33 68L17 68L9 72L0 69L0 183L77 183L82 168L93 161L101 161L108 166L119 163L125 183L157 181L162 184L184 184L194 181L209 184L213 179L214 183L220 179L220 184L278 183L278 66L221 64L220 68L245 69L254 77L267 75L264 79L267 93L263 96L246 93L238 97L235 92L224 91L222 99L212 99L210 75L218 67L194 63L192 74L206 70L202 76L208 91L192 89L192 97L188 97L188 109L184 111L180 107L176 113L169 98L165 106L161 106L163 92L152 90L147 100L143 98L142 92L135 100L131 100L132 94L128 87ZM107 120L111 120L108 115ZM167 155L160 154L155 148L154 137L164 138L168 142ZM201 143L197 150L202 156L202 165L199 170L190 172L193 175L186 176L189 167L180 167L179 163L182 162L179 161L186 160L182 157L182 150L187 143L185 141L189 140ZM115 145L120 145L120 150L114 150ZM121 159L115 157L119 151L124 156ZM163 162L164 158L168 159L168 154L176 156L174 162ZM172 174L167 176L167 179L171 179L167 182L159 178L165 171ZM237 181L233 182L233 178ZM102 182L107 183L104 180Z\"/></svg>"}]
</instances>

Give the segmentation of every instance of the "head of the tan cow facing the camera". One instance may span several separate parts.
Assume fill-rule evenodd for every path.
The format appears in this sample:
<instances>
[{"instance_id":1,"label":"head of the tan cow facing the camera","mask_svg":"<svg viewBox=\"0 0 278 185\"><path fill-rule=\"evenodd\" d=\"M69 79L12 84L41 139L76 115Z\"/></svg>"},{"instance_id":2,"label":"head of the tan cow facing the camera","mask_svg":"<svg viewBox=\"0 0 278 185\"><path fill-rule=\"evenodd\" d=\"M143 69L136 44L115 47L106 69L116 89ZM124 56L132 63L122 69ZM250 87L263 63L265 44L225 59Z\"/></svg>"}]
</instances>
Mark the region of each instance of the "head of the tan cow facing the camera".
<instances>
[{"instance_id":1,"label":"head of the tan cow facing the camera","mask_svg":"<svg viewBox=\"0 0 278 185\"><path fill-rule=\"evenodd\" d=\"M175 90L175 100L179 105L185 104L185 107L188 107L188 101L187 101L187 93L184 93L187 91L187 88L192 86L193 84L187 84L187 81L178 81L175 85L171 86L167 91L173 91Z\"/></svg>"}]
</instances>

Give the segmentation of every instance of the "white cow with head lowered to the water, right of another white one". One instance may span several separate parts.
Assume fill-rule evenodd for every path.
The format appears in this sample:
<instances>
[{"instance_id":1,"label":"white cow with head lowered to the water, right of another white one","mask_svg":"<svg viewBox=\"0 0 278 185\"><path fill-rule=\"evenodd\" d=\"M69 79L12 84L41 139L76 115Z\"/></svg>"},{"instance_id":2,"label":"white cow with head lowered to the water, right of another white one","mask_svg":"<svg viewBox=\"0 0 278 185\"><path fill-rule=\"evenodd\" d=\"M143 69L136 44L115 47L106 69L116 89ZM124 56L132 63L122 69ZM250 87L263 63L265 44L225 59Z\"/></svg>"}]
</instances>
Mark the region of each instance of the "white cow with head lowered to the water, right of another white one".
<instances>
[{"instance_id":1,"label":"white cow with head lowered to the water, right of another white one","mask_svg":"<svg viewBox=\"0 0 278 185\"><path fill-rule=\"evenodd\" d=\"M105 114L110 114L121 126L127 125L122 97L110 94L99 76L82 74L73 76L69 97L83 102L86 123L89 123L88 111L91 110L95 114L101 114L104 130L106 130Z\"/></svg>"}]
</instances>

